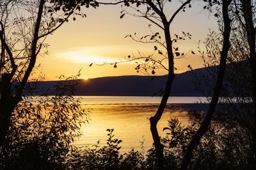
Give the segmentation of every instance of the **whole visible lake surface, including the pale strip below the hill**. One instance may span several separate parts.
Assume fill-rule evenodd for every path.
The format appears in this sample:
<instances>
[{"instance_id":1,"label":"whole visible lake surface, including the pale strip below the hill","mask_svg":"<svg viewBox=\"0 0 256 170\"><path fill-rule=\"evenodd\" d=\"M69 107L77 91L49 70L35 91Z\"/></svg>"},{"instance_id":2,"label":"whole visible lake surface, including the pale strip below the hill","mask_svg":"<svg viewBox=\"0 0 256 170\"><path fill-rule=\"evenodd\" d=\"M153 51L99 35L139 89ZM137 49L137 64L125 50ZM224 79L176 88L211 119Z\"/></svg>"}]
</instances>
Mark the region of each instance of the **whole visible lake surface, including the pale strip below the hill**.
<instances>
[{"instance_id":1,"label":"whole visible lake surface, including the pale strip below the hill","mask_svg":"<svg viewBox=\"0 0 256 170\"><path fill-rule=\"evenodd\" d=\"M89 124L82 126L83 136L74 144L92 146L100 140L101 145L104 145L108 134L106 129L115 129L115 138L123 141L122 153L128 152L131 148L140 150L140 141L144 141L143 146L148 150L152 146L148 118L156 113L160 101L160 97L84 96L81 102L84 108L92 109L91 120ZM202 109L204 104L193 103L204 101L204 97L170 97L157 126L160 136L165 136L163 128L172 117L179 118L184 125L188 124L188 110Z\"/></svg>"}]
</instances>

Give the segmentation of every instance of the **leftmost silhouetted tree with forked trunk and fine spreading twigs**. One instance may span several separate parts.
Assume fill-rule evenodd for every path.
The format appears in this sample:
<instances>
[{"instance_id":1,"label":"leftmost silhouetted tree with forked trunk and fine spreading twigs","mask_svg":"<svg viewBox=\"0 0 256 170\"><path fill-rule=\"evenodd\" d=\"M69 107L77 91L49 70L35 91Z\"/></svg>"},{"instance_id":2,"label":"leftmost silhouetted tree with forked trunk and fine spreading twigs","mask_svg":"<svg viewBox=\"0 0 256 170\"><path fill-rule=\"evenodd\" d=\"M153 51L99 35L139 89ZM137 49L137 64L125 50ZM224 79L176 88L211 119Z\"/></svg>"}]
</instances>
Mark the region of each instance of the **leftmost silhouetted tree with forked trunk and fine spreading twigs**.
<instances>
[{"instance_id":1,"label":"leftmost silhouetted tree with forked trunk and fine spreading twigs","mask_svg":"<svg viewBox=\"0 0 256 170\"><path fill-rule=\"evenodd\" d=\"M14 1L0 2L0 143L3 143L10 118L22 100L36 59L47 53L47 35L68 22L83 16L81 6L97 7L93 0Z\"/></svg>"}]
</instances>

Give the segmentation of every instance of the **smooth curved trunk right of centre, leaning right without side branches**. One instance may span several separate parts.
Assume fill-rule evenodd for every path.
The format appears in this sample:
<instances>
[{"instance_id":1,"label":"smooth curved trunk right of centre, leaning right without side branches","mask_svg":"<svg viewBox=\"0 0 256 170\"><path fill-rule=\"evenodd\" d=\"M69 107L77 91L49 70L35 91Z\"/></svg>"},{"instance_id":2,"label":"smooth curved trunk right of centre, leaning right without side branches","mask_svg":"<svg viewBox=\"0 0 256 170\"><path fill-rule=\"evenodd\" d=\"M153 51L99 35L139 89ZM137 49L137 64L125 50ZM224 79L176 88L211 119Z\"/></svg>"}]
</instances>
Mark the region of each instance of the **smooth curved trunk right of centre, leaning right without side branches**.
<instances>
[{"instance_id":1,"label":"smooth curved trunk right of centre, leaning right without side branches","mask_svg":"<svg viewBox=\"0 0 256 170\"><path fill-rule=\"evenodd\" d=\"M220 96L220 90L223 82L223 77L225 73L225 67L226 67L226 60L228 56L228 49L230 47L230 18L228 17L228 6L230 4L230 1L223 0L222 4L222 14L223 14L223 22L224 22L224 32L223 32L223 48L221 51L221 58L220 58L220 66L218 69L218 76L216 80L216 84L214 86L214 93L212 95L211 103L209 104L209 108L207 110L207 113L205 113L204 120L202 124L200 125L200 128L198 131L196 131L195 136L191 139L188 148L186 150L182 167L181 169L188 169L189 163L191 161L191 157L193 155L193 150L195 149L196 145L198 145L200 139L204 136L205 132L207 131L207 128L209 127L212 119L212 115L215 111L216 104L218 103L218 98Z\"/></svg>"}]
</instances>

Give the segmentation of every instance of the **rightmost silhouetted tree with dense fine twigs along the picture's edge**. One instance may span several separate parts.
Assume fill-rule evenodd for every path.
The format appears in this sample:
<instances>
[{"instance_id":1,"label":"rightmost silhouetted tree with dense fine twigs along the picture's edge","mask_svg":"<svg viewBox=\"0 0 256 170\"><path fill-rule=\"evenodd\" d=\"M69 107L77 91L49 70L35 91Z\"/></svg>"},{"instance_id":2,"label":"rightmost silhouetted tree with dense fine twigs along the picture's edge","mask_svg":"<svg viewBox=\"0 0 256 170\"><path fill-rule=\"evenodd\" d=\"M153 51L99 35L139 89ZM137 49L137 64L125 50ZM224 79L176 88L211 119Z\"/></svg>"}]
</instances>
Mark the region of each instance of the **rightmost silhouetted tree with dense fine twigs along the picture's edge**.
<instances>
[{"instance_id":1,"label":"rightmost silhouetted tree with dense fine twigs along the picture's edge","mask_svg":"<svg viewBox=\"0 0 256 170\"><path fill-rule=\"evenodd\" d=\"M248 139L251 140L247 144L251 148L251 155L246 159L248 159L249 167L254 169L256 153L255 1L232 1L229 9L230 16L232 16L231 46L228 54L230 66L228 66L228 70L226 71L223 96L238 97L236 97L235 101L234 98L221 99L221 103L228 103L227 107L225 107L226 104L223 104L221 108L231 113L234 124L238 122L239 126L244 127ZM216 58L211 59L210 66L214 65L214 62L218 63L219 60L216 60Z\"/></svg>"}]
</instances>

